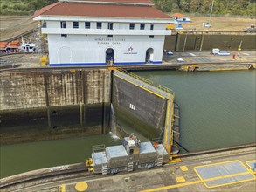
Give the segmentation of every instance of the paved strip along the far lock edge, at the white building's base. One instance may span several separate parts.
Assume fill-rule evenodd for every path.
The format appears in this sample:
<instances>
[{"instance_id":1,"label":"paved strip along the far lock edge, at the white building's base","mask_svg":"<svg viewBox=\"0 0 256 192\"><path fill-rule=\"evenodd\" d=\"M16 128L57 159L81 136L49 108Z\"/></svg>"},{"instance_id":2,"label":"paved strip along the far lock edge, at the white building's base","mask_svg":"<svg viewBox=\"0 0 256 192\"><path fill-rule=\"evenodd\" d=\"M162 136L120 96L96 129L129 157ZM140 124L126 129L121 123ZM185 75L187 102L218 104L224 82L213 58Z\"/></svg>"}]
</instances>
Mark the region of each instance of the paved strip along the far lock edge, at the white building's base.
<instances>
[{"instance_id":1,"label":"paved strip along the far lock edge, at the white building's base","mask_svg":"<svg viewBox=\"0 0 256 192\"><path fill-rule=\"evenodd\" d=\"M229 56L219 56L212 55L210 51L195 51L195 52L174 52L172 56L163 54L163 64L158 65L120 65L123 68L129 69L142 69L142 68L161 68L163 65L170 67L176 67L179 65L190 65L190 64L204 64L204 65L214 65L214 64L255 64L256 63L256 52L255 51L241 51L239 56L236 55L236 58L233 59L232 55L238 54L238 51L232 51ZM24 54L24 55L13 55L13 56L2 56L0 58L0 68L1 65L22 65L22 67L42 67L39 62L41 56L38 54ZM179 63L177 58L183 58L184 62ZM107 66L107 65L106 65ZM92 66L88 66L92 67ZM93 66L95 67L95 66ZM102 66L100 66L102 67ZM53 67L51 67L53 68ZM58 68L58 67L57 67ZM75 68L75 67L66 67L66 68ZM81 68L81 66L79 67Z\"/></svg>"}]
</instances>

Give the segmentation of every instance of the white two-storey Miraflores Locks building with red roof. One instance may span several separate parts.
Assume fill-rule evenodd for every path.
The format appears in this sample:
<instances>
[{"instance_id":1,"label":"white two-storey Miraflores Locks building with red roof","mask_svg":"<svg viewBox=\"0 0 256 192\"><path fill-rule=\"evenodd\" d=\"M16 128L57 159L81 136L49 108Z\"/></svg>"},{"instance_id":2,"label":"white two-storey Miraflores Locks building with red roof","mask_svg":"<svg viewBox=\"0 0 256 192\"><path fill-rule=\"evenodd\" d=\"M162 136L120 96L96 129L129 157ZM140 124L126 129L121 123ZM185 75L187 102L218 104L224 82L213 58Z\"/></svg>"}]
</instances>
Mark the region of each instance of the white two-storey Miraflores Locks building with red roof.
<instances>
[{"instance_id":1,"label":"white two-storey Miraflores Locks building with red roof","mask_svg":"<svg viewBox=\"0 0 256 192\"><path fill-rule=\"evenodd\" d=\"M35 12L52 66L162 63L170 16L149 0L59 0Z\"/></svg>"}]
</instances>

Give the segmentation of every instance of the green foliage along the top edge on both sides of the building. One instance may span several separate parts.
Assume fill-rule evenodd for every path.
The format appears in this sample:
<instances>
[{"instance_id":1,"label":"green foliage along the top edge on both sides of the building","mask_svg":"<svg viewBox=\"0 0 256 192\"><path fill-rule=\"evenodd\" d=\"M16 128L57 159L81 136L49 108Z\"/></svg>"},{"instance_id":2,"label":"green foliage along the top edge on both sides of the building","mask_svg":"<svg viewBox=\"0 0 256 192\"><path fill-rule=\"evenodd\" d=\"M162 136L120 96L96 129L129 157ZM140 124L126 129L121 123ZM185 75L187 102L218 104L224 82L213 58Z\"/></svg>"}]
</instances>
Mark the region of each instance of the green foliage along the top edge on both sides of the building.
<instances>
[{"instance_id":1,"label":"green foliage along the top edge on both sides of the building","mask_svg":"<svg viewBox=\"0 0 256 192\"><path fill-rule=\"evenodd\" d=\"M30 15L58 0L1 0L0 15ZM209 14L212 0L151 0L164 12ZM214 0L213 14L256 15L255 0Z\"/></svg>"}]
</instances>

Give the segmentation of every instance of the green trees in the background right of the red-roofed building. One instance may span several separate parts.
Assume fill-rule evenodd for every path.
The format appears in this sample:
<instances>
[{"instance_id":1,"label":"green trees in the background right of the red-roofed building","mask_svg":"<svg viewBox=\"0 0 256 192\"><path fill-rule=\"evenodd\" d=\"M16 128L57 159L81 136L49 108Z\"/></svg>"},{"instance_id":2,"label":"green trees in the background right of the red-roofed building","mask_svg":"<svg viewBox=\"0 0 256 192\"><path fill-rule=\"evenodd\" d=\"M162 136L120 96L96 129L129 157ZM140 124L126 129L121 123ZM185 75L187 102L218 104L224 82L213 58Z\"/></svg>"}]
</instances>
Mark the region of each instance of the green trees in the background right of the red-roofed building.
<instances>
[{"instance_id":1,"label":"green trees in the background right of the red-roofed building","mask_svg":"<svg viewBox=\"0 0 256 192\"><path fill-rule=\"evenodd\" d=\"M152 0L156 8L164 12L209 14L212 0ZM214 0L213 14L256 15L255 0Z\"/></svg>"}]
</instances>

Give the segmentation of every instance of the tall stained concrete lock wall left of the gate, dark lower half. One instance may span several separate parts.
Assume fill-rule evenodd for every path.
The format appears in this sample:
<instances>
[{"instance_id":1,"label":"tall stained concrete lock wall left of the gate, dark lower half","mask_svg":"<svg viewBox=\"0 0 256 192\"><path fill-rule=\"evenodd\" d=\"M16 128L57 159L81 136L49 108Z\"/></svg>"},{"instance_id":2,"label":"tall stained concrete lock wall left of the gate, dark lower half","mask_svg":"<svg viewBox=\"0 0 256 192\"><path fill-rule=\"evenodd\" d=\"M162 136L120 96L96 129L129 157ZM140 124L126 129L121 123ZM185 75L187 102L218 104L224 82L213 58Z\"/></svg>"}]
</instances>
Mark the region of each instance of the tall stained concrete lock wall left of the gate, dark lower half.
<instances>
[{"instance_id":1,"label":"tall stained concrete lock wall left of the gate, dark lower half","mask_svg":"<svg viewBox=\"0 0 256 192\"><path fill-rule=\"evenodd\" d=\"M1 142L107 133L110 82L98 69L0 72Z\"/></svg>"}]
</instances>

